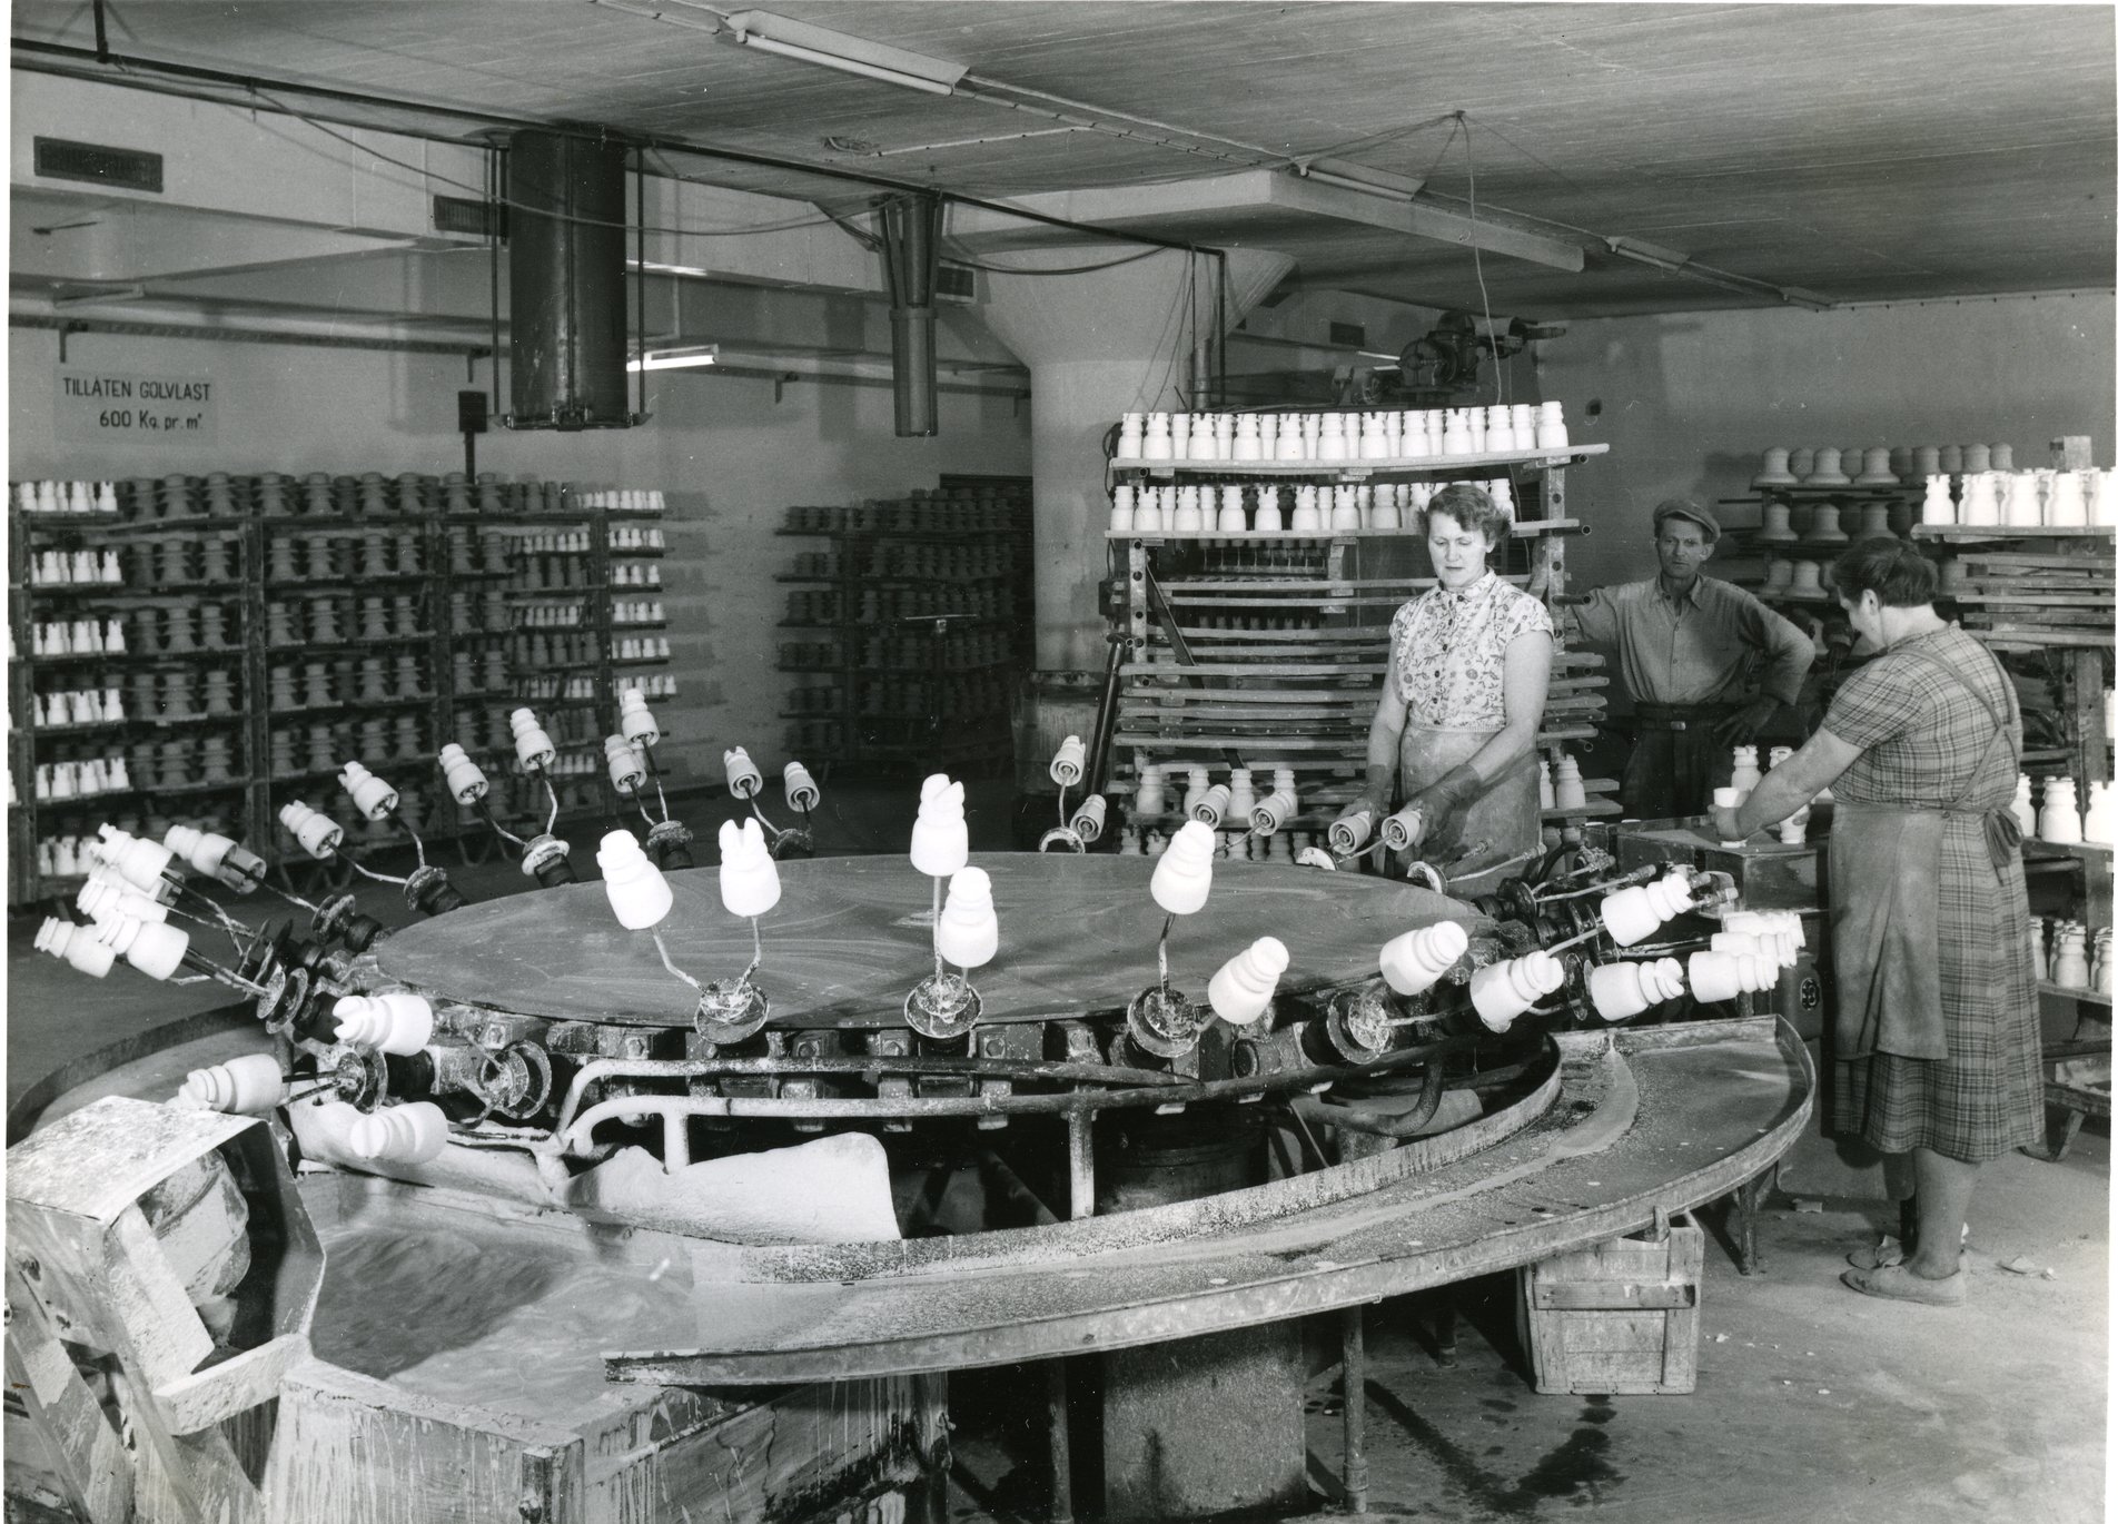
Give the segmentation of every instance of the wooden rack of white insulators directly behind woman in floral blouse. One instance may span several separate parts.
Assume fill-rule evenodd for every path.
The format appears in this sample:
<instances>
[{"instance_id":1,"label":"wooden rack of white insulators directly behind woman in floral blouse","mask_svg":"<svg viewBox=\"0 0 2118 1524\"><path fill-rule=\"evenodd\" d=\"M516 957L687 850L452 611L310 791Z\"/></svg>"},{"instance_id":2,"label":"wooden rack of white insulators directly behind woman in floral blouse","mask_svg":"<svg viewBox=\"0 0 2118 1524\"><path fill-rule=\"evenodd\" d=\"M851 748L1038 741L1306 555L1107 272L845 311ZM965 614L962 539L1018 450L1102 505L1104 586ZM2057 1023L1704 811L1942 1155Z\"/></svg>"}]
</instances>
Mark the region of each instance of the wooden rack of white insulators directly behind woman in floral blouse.
<instances>
[{"instance_id":1,"label":"wooden rack of white insulators directly behind woman in floral blouse","mask_svg":"<svg viewBox=\"0 0 2118 1524\"><path fill-rule=\"evenodd\" d=\"M1506 474L1519 521L1493 569L1555 605L1552 684L1538 749L1557 758L1588 741L1603 715L1601 656L1569 650L1565 544L1588 527L1565 512L1565 468L1608 444L1364 461L1148 461L1118 457L1127 478L1180 478L1211 491L1224 483L1487 480ZM1531 502L1533 491L1533 502ZM1106 792L1131 796L1144 764L1241 758L1262 796L1273 766L1296 773L1300 813L1290 830L1320 832L1360 792L1368 722L1389 663L1389 618L1434 586L1413 576L1419 531L1106 531L1118 599L1120 665L1112 777ZM1173 618L1175 648L1150 603L1150 582ZM1250 627L1243 627L1250 620ZM1256 629L1258 622L1296 629ZM1188 660L1186 660L1188 656ZM1548 823L1618 815L1614 779L1584 779L1586 806L1544 811ZM1182 794L1178 785L1175 794ZM1173 828L1178 813L1133 819Z\"/></svg>"}]
</instances>

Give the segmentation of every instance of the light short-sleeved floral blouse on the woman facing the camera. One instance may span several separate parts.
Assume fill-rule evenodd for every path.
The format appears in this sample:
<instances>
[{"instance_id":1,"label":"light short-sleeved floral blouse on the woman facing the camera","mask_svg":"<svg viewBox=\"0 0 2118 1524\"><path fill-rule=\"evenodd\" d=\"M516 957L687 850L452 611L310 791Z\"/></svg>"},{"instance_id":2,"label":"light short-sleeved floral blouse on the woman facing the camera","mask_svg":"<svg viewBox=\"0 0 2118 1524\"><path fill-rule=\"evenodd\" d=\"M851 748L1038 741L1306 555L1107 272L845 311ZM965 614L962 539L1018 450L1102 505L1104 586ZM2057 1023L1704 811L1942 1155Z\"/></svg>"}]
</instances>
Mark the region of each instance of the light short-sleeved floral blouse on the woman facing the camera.
<instances>
[{"instance_id":1,"label":"light short-sleeved floral blouse on the woman facing the camera","mask_svg":"<svg viewBox=\"0 0 2118 1524\"><path fill-rule=\"evenodd\" d=\"M1508 641L1552 633L1544 603L1487 572L1468 588L1428 588L1389 620L1389 677L1406 715L1428 730L1508 724L1502 669Z\"/></svg>"}]
</instances>

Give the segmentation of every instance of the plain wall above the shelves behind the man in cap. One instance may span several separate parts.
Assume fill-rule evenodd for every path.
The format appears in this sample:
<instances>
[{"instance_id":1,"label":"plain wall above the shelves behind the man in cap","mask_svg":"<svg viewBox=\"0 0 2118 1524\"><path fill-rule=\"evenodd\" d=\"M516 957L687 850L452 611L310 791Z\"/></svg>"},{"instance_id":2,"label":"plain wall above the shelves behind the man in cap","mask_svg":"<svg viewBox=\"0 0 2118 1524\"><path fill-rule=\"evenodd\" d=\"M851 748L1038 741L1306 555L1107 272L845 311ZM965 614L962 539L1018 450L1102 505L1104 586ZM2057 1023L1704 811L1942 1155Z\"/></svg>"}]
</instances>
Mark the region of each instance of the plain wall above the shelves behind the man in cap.
<instances>
[{"instance_id":1,"label":"plain wall above the shelves behind the man in cap","mask_svg":"<svg viewBox=\"0 0 2118 1524\"><path fill-rule=\"evenodd\" d=\"M1540 389L1565 402L1576 442L1610 455L1567 474L1569 510L1595 525L1569 572L1648 576L1650 508L1747 495L1771 444L2008 442L2031 468L2046 440L2088 434L2107 466L2114 322L2110 292L1574 322L1540 345ZM1724 514L1758 521L1754 506Z\"/></svg>"}]
</instances>

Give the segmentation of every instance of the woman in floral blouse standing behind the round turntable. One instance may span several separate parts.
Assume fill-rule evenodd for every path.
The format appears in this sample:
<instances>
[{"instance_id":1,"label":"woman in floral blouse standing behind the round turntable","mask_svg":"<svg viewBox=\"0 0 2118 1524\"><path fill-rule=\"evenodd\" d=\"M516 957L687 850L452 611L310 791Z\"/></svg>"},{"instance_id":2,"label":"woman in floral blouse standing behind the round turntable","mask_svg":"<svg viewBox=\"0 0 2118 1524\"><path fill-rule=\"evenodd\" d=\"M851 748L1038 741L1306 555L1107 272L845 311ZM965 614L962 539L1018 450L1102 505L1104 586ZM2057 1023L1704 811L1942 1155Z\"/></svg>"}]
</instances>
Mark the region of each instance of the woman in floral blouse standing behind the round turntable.
<instances>
[{"instance_id":1,"label":"woman in floral blouse standing behind the round turntable","mask_svg":"<svg viewBox=\"0 0 2118 1524\"><path fill-rule=\"evenodd\" d=\"M1368 726L1368 781L1345 813L1366 809L1379 821L1402 781L1402 798L1423 817L1413 855L1436 868L1455 864L1451 889L1483 893L1506 859L1536 851L1542 838L1536 739L1552 620L1544 603L1487 569L1508 516L1485 491L1444 487L1428 504L1423 529L1440 586L1389 622L1389 671ZM1478 872L1480 864L1489 868Z\"/></svg>"}]
</instances>

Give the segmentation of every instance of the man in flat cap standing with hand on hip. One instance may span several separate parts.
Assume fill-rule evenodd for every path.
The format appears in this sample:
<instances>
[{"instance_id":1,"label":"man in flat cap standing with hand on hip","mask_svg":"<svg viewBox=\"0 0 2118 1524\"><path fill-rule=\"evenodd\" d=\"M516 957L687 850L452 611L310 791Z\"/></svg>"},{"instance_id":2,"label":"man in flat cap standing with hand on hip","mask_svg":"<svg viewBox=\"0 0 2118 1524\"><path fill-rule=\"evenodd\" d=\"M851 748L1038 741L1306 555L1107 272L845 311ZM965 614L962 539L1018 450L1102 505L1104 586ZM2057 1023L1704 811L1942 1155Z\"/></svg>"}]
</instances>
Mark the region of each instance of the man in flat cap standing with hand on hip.
<instances>
[{"instance_id":1,"label":"man in flat cap standing with hand on hip","mask_svg":"<svg viewBox=\"0 0 2118 1524\"><path fill-rule=\"evenodd\" d=\"M1639 743L1625 766L1625 813L1703 815L1728 781L1733 747L1792 705L1815 660L1794 624L1739 586L1703 576L1720 523L1682 497L1654 506L1661 574L1597 588L1580 631L1618 650Z\"/></svg>"}]
</instances>

